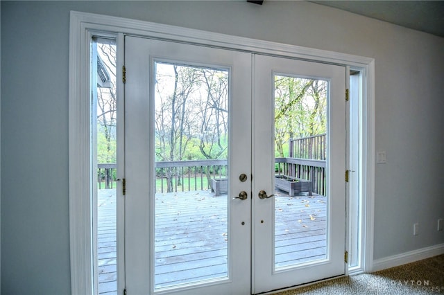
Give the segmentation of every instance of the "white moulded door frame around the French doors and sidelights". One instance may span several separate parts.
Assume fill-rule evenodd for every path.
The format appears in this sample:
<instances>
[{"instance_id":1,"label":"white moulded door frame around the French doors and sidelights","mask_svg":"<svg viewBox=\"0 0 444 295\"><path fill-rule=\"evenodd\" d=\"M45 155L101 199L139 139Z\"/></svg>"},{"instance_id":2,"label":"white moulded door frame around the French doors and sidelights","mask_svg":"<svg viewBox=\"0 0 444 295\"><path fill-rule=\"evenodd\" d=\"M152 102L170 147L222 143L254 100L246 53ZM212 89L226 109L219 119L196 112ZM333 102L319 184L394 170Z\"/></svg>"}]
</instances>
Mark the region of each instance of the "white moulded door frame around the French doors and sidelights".
<instances>
[{"instance_id":1,"label":"white moulded door frame around the French doors and sidelights","mask_svg":"<svg viewBox=\"0 0 444 295\"><path fill-rule=\"evenodd\" d=\"M362 185L359 201L361 215L361 267L354 274L373 269L373 218L375 197L375 60L370 57L336 53L320 49L289 44L279 44L246 37L237 37L203 30L155 24L121 17L96 15L71 11L69 28L69 237L71 260L71 292L94 294L93 289L93 232L92 232L92 163L90 138L90 62L89 42L93 35L117 39L117 69L123 66L123 35L137 35L169 39L178 42L201 44L232 50L249 51L264 55L292 57L300 60L325 62L350 66L362 75L362 97L359 111L362 116L359 132L361 166L359 171ZM121 81L121 71L117 73ZM123 97L123 82L117 84L117 95ZM118 102L119 103L119 102ZM119 105L118 105L119 107ZM117 132L123 126L118 127ZM123 130L123 129L121 129ZM119 160L118 160L119 161ZM123 167L117 163L118 167ZM118 170L121 174L122 171ZM119 175L118 177L122 177ZM119 190L118 190L119 191ZM121 191L121 190L120 190ZM123 204L123 196L117 196L117 206ZM117 213L119 214L119 213ZM117 230L122 224L117 224ZM123 241L117 239L118 253ZM124 258L118 257L118 265ZM118 271L121 266L118 266ZM123 292L118 280L117 292Z\"/></svg>"}]
</instances>

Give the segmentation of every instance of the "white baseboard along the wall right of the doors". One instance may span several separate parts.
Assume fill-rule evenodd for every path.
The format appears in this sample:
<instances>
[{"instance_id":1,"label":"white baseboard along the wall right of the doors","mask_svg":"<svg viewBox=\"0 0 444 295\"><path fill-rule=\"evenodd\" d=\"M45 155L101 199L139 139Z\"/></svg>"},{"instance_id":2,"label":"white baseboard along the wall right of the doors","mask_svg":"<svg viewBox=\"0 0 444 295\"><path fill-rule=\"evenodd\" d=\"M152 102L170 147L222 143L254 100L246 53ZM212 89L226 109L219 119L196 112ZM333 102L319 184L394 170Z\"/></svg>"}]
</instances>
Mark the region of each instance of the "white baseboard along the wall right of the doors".
<instances>
[{"instance_id":1,"label":"white baseboard along the wall right of the doors","mask_svg":"<svg viewBox=\"0 0 444 295\"><path fill-rule=\"evenodd\" d=\"M438 244L431 247L425 247L418 250L405 252L402 254L389 256L373 260L373 271L398 267L407 263L430 258L433 256L444 254L444 244Z\"/></svg>"}]
</instances>

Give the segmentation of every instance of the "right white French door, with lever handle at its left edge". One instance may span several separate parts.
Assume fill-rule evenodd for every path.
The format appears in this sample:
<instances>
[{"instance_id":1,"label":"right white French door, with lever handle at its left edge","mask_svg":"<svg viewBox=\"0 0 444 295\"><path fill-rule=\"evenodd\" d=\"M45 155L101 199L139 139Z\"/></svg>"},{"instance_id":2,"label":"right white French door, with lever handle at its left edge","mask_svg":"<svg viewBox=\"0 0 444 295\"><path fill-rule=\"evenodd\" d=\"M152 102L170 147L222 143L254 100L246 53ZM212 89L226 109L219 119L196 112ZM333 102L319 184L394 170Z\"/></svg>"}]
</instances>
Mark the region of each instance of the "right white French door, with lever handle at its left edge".
<instances>
[{"instance_id":1,"label":"right white French door, with lever handle at its left edge","mask_svg":"<svg viewBox=\"0 0 444 295\"><path fill-rule=\"evenodd\" d=\"M253 81L253 293L340 276L345 270L345 67L256 55ZM302 91L288 102L301 84ZM278 117L289 108L285 125L305 124L292 118L300 111L318 109L316 116L325 116L318 118L326 124L318 126L325 128L325 141L318 142L326 145L325 154L318 155L323 160L299 159L301 165L287 166L296 177L305 175L301 179L309 179L312 190L325 178L322 195L275 193L280 174L275 140L283 128ZM302 129L314 129L310 124L315 122ZM316 154L310 143L302 143L298 152L293 157ZM261 191L274 196L259 198Z\"/></svg>"}]
</instances>

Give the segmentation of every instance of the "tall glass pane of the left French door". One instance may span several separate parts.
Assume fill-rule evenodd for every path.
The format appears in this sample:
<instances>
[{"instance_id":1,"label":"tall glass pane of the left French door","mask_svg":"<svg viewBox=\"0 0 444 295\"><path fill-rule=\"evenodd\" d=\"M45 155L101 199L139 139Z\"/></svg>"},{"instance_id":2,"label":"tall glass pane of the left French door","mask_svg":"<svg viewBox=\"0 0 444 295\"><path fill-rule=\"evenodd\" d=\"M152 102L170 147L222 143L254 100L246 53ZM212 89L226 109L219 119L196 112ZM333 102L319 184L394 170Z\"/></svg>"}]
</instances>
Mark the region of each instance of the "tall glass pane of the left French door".
<instances>
[{"instance_id":1,"label":"tall glass pane of the left French door","mask_svg":"<svg viewBox=\"0 0 444 295\"><path fill-rule=\"evenodd\" d=\"M228 277L228 81L155 62L155 289Z\"/></svg>"}]
</instances>

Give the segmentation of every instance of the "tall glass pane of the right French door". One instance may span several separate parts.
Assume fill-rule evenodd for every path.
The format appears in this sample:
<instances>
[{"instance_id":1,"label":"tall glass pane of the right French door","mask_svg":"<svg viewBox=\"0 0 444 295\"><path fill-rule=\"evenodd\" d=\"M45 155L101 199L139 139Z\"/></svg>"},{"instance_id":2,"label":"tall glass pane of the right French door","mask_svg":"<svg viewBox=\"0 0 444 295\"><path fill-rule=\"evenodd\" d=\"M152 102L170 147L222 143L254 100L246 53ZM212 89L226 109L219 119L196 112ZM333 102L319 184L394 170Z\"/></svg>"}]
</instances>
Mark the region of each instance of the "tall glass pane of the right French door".
<instances>
[{"instance_id":1,"label":"tall glass pane of the right French door","mask_svg":"<svg viewBox=\"0 0 444 295\"><path fill-rule=\"evenodd\" d=\"M327 258L326 80L275 75L275 256L281 269Z\"/></svg>"}]
</instances>

